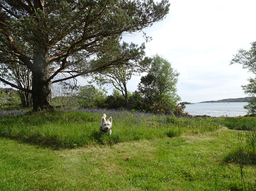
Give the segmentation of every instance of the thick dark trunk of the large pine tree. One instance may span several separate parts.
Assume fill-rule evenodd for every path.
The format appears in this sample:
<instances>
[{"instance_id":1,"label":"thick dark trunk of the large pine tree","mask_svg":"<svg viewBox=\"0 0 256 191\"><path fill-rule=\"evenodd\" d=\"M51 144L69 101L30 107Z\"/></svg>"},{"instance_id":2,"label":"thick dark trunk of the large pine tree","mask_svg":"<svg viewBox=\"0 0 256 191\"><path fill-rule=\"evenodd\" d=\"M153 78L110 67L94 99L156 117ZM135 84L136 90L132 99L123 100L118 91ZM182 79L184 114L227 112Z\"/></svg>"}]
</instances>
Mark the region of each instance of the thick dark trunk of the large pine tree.
<instances>
[{"instance_id":1,"label":"thick dark trunk of the large pine tree","mask_svg":"<svg viewBox=\"0 0 256 191\"><path fill-rule=\"evenodd\" d=\"M43 58L41 53L34 53L33 68L31 68L34 111L52 108L51 82L45 83L49 78L49 64Z\"/></svg>"}]
</instances>

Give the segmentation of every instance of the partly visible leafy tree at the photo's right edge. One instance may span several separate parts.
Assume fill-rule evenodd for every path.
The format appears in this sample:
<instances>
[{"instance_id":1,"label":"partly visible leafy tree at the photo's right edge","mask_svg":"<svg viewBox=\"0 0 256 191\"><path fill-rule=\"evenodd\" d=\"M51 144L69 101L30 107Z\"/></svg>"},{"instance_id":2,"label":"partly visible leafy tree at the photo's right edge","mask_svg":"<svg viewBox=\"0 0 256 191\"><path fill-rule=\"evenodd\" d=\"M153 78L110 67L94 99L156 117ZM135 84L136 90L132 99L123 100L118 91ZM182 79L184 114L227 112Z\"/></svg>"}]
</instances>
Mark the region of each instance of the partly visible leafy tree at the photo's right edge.
<instances>
[{"instance_id":1,"label":"partly visible leafy tree at the photo's right edge","mask_svg":"<svg viewBox=\"0 0 256 191\"><path fill-rule=\"evenodd\" d=\"M256 75L256 41L251 43L250 50L239 49L238 53L234 55L233 59L230 61L230 64L242 64L242 67L248 69L249 72L252 72ZM254 98L248 102L248 105L245 105L244 108L248 110L248 114L256 114L256 77L248 78L248 85L242 86L242 89L249 96Z\"/></svg>"}]
</instances>

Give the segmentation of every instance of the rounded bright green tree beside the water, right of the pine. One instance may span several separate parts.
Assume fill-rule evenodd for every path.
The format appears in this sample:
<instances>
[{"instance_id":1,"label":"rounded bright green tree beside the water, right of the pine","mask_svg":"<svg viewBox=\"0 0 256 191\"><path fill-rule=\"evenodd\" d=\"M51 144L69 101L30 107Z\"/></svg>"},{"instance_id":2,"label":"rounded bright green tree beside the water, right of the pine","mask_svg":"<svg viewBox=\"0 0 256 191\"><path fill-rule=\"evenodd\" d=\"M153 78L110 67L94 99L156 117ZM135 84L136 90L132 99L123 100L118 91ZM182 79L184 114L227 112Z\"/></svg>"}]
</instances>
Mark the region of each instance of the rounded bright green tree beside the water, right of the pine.
<instances>
[{"instance_id":1,"label":"rounded bright green tree beside the water, right of the pine","mask_svg":"<svg viewBox=\"0 0 256 191\"><path fill-rule=\"evenodd\" d=\"M173 112L180 97L176 84L179 73L171 67L171 63L155 55L151 68L146 76L141 77L138 90L142 93L147 109L156 113Z\"/></svg>"}]
</instances>

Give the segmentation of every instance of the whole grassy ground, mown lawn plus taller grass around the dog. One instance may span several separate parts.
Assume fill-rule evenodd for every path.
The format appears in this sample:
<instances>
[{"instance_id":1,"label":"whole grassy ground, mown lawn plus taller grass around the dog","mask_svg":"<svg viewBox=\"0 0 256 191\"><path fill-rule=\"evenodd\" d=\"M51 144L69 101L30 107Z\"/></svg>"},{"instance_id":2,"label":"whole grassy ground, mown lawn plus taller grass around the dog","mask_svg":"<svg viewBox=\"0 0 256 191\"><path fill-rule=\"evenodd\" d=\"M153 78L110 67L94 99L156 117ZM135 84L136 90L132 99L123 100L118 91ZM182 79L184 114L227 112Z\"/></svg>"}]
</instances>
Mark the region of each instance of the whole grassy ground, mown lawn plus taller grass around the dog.
<instances>
[{"instance_id":1,"label":"whole grassy ground, mown lawn plus taller grass around the dog","mask_svg":"<svg viewBox=\"0 0 256 191\"><path fill-rule=\"evenodd\" d=\"M225 118L141 115L112 113L110 137L101 112L4 115L0 190L256 190L255 165L227 159L246 132Z\"/></svg>"}]
</instances>

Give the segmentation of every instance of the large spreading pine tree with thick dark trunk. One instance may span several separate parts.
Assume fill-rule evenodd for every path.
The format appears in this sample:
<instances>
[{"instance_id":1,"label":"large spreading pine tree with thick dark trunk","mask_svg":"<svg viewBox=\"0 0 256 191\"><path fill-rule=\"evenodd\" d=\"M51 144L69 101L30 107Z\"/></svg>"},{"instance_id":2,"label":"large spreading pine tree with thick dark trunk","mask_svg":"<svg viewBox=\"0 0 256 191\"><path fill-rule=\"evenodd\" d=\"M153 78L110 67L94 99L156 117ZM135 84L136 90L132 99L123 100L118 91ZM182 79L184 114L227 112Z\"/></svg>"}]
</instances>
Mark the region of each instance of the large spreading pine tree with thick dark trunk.
<instances>
[{"instance_id":1,"label":"large spreading pine tree with thick dark trunk","mask_svg":"<svg viewBox=\"0 0 256 191\"><path fill-rule=\"evenodd\" d=\"M124 62L137 67L143 47L120 44L125 34L161 21L168 0L0 0L0 63L32 73L33 110L51 108L51 84ZM134 65L135 64L135 65Z\"/></svg>"}]
</instances>

